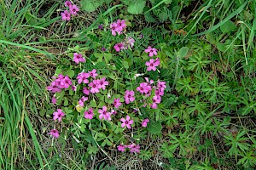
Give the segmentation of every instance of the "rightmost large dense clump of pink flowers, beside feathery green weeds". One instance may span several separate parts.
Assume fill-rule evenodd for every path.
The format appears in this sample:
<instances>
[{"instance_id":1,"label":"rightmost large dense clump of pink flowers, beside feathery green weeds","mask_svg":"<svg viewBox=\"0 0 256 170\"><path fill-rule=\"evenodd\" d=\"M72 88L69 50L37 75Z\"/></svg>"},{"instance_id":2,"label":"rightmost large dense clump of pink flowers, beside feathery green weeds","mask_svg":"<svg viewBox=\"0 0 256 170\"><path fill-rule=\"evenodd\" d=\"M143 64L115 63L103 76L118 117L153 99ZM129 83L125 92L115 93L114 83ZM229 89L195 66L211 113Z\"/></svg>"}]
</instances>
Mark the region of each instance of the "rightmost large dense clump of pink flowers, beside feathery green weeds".
<instances>
[{"instance_id":1,"label":"rightmost large dense clump of pink flowers, beside feathery green weeds","mask_svg":"<svg viewBox=\"0 0 256 170\"><path fill-rule=\"evenodd\" d=\"M141 82L140 86L136 88L138 92L141 94L144 94L145 97L150 97L152 89L154 89L154 96L152 99L152 104L150 104L150 107L152 109L157 109L157 105L161 102L161 96L164 95L164 91L166 88L166 82L157 82L157 86L152 86L154 83L153 80L148 81L148 77L145 77L146 82ZM144 100L143 100L144 102ZM145 104L144 106L146 106Z\"/></svg>"}]
</instances>

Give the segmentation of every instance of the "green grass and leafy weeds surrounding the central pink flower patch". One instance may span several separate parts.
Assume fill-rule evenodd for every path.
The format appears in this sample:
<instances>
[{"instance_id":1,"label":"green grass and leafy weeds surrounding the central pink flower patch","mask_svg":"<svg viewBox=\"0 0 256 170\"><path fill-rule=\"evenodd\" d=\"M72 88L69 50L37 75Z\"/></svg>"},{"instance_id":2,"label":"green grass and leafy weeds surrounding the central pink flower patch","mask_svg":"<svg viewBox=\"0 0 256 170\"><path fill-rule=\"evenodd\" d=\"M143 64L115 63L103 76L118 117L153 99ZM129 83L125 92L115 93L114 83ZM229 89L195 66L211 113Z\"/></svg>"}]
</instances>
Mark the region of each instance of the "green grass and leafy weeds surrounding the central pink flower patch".
<instances>
[{"instance_id":1,"label":"green grass and leafy weeds surrounding the central pink flower patch","mask_svg":"<svg viewBox=\"0 0 256 170\"><path fill-rule=\"evenodd\" d=\"M255 169L254 0L73 3L79 15L65 22L62 1L0 1L2 169ZM99 48L98 26L119 18L166 60L160 132L145 133L139 154L51 139L50 77L73 65L68 48Z\"/></svg>"}]
</instances>

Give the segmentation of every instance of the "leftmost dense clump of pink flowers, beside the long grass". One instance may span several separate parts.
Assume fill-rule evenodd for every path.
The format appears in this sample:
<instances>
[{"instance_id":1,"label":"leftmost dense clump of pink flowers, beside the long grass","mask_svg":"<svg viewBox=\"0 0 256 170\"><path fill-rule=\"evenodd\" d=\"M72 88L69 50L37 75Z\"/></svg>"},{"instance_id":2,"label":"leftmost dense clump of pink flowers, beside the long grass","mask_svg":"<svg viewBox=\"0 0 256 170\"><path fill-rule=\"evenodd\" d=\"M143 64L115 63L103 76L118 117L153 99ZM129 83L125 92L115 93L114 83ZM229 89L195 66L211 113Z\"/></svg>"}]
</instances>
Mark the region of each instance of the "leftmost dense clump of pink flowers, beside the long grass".
<instances>
[{"instance_id":1,"label":"leftmost dense clump of pink flowers, beside the long grass","mask_svg":"<svg viewBox=\"0 0 256 170\"><path fill-rule=\"evenodd\" d=\"M72 81L68 76L59 75L58 77L53 77L55 80L51 82L47 90L51 93L61 92L63 88L69 88L72 85Z\"/></svg>"}]
</instances>

